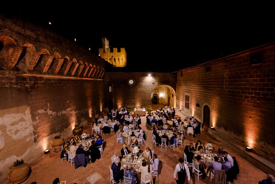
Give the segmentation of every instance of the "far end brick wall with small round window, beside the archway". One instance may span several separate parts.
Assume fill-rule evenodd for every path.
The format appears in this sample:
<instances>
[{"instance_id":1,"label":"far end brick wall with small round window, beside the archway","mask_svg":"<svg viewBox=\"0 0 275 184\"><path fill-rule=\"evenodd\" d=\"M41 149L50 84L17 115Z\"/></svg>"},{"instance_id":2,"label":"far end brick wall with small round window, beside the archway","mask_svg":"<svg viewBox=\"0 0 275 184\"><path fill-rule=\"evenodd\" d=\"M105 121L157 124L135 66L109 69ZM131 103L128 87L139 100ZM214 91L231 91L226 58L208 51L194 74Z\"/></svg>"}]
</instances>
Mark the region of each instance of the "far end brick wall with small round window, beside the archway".
<instances>
[{"instance_id":1,"label":"far end brick wall with small round window, beside the archway","mask_svg":"<svg viewBox=\"0 0 275 184\"><path fill-rule=\"evenodd\" d=\"M134 80L129 85L129 79ZM150 107L153 89L166 84L175 89L176 77L171 73L119 73L107 72L104 78L105 106L114 102L115 107ZM113 86L109 92L108 86Z\"/></svg>"}]
</instances>

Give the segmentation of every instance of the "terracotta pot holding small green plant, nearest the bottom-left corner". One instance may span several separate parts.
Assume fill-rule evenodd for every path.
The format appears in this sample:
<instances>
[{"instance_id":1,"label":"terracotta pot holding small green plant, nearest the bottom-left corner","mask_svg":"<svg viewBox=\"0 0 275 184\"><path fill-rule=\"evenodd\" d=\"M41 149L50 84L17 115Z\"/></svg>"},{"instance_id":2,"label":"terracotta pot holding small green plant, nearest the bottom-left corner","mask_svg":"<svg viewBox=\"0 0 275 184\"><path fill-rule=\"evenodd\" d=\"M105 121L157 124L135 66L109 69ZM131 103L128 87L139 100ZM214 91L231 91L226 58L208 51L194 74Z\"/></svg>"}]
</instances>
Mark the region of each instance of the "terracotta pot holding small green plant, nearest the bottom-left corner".
<instances>
[{"instance_id":1,"label":"terracotta pot holding small green plant, nearest the bottom-left corner","mask_svg":"<svg viewBox=\"0 0 275 184\"><path fill-rule=\"evenodd\" d=\"M13 167L8 174L8 181L10 183L21 183L28 178L30 167L27 163L20 166Z\"/></svg>"}]
</instances>

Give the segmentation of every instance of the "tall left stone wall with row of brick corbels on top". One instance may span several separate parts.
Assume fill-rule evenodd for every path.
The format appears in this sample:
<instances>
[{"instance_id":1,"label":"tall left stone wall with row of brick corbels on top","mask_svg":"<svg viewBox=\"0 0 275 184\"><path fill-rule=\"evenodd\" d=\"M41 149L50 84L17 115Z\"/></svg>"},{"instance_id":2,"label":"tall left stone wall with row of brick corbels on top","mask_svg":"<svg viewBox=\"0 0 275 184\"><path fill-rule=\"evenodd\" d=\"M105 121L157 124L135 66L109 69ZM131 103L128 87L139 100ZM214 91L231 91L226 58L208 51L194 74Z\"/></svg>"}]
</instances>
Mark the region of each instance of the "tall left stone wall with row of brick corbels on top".
<instances>
[{"instance_id":1,"label":"tall left stone wall with row of brick corbels on top","mask_svg":"<svg viewBox=\"0 0 275 184\"><path fill-rule=\"evenodd\" d=\"M55 135L67 140L102 110L105 63L46 28L0 17L0 183L16 159L34 162Z\"/></svg>"}]
</instances>

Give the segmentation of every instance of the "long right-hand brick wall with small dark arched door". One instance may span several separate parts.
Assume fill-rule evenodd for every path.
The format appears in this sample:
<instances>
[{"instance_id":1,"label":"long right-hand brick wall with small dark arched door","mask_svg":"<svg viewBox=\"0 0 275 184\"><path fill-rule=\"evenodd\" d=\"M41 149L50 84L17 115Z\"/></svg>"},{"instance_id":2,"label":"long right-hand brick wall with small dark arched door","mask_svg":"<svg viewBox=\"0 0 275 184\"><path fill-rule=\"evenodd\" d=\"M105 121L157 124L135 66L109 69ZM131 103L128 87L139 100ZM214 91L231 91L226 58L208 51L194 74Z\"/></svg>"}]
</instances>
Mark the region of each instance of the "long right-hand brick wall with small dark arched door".
<instances>
[{"instance_id":1,"label":"long right-hand brick wall with small dark arched door","mask_svg":"<svg viewBox=\"0 0 275 184\"><path fill-rule=\"evenodd\" d=\"M262 64L251 65L251 55L258 52ZM203 122L207 105L210 126L275 162L274 87L275 45L270 45L177 72L176 107ZM190 95L189 110L185 94Z\"/></svg>"}]
</instances>

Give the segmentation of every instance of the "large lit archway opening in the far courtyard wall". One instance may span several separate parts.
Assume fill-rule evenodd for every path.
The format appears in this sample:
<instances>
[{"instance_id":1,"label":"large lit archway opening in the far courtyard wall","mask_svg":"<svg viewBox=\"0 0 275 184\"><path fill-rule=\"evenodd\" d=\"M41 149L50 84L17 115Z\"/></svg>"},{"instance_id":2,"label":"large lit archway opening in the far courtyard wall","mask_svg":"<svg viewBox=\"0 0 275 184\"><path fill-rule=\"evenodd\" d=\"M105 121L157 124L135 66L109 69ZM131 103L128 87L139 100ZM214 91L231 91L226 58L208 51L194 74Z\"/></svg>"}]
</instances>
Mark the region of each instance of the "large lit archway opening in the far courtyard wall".
<instances>
[{"instance_id":1,"label":"large lit archway opening in the far courtyard wall","mask_svg":"<svg viewBox=\"0 0 275 184\"><path fill-rule=\"evenodd\" d=\"M164 107L176 107L176 93L175 90L168 85L156 86L151 94L152 105Z\"/></svg>"}]
</instances>

